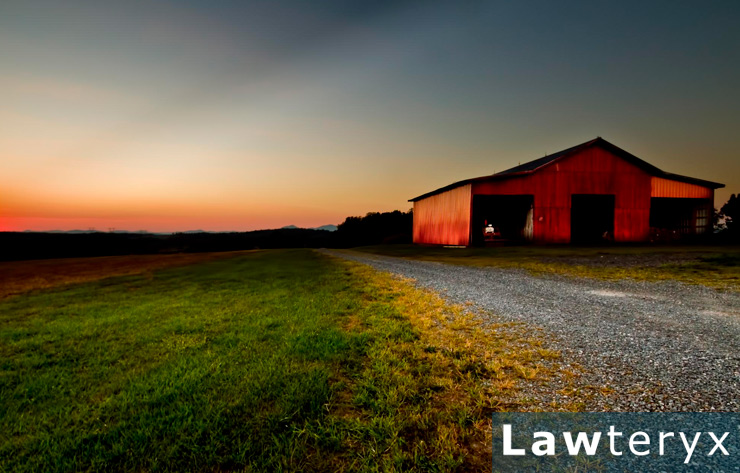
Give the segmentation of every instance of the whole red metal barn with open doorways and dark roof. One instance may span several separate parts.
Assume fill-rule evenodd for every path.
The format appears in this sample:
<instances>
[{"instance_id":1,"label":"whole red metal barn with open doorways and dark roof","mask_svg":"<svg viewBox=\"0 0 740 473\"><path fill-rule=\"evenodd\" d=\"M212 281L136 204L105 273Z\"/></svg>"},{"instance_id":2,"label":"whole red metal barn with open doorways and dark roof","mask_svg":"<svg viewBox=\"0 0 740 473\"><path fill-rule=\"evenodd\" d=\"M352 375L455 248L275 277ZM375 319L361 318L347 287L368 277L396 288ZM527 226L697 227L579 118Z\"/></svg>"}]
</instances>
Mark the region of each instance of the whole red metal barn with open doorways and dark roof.
<instances>
[{"instance_id":1,"label":"whole red metal barn with open doorways and dark roof","mask_svg":"<svg viewBox=\"0 0 740 473\"><path fill-rule=\"evenodd\" d=\"M662 171L602 138L491 176L455 182L414 203L414 243L476 245L641 242L711 231L716 182Z\"/></svg>"}]
</instances>

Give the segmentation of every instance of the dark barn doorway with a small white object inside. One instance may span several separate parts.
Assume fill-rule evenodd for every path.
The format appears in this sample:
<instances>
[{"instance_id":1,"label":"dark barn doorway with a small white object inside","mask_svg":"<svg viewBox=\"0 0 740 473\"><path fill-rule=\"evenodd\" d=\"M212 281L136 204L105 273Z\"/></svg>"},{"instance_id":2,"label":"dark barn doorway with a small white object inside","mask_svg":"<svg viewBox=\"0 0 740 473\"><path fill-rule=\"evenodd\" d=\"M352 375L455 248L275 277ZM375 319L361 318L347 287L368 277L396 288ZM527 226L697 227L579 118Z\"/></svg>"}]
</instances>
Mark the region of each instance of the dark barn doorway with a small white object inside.
<instances>
[{"instance_id":1,"label":"dark barn doorway with a small white object inside","mask_svg":"<svg viewBox=\"0 0 740 473\"><path fill-rule=\"evenodd\" d=\"M532 240L532 195L474 195L472 241L483 245L484 229L492 225L496 241L526 242Z\"/></svg>"}]
</instances>

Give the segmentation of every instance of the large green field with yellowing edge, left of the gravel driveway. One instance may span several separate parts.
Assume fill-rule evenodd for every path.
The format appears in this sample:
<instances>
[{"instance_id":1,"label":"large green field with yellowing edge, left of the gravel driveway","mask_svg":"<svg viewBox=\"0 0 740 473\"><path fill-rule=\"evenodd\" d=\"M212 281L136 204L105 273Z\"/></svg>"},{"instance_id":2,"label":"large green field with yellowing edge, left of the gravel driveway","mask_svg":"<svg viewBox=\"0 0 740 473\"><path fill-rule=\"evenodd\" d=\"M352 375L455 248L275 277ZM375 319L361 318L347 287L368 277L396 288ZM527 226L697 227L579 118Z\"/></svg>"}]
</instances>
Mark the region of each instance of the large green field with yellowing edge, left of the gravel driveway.
<instances>
[{"instance_id":1,"label":"large green field with yellowing edge, left of the gravel driveway","mask_svg":"<svg viewBox=\"0 0 740 473\"><path fill-rule=\"evenodd\" d=\"M558 357L310 250L31 290L0 301L0 471L489 471L489 414Z\"/></svg>"}]
</instances>

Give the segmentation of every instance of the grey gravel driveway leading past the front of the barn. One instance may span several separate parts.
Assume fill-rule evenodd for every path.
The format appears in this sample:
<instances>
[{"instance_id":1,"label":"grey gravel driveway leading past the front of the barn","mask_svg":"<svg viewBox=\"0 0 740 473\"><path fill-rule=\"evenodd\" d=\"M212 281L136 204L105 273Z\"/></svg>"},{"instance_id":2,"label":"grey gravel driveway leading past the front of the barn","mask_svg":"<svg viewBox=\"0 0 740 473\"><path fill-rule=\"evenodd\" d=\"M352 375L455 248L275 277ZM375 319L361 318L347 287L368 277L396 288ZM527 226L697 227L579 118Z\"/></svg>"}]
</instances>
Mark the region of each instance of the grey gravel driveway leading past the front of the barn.
<instances>
[{"instance_id":1,"label":"grey gravel driveway leading past the front of the barn","mask_svg":"<svg viewBox=\"0 0 740 473\"><path fill-rule=\"evenodd\" d=\"M488 320L541 327L566 359L586 368L589 383L616 390L611 409L740 410L736 292L327 253L413 278L451 302L472 302L492 314Z\"/></svg>"}]
</instances>

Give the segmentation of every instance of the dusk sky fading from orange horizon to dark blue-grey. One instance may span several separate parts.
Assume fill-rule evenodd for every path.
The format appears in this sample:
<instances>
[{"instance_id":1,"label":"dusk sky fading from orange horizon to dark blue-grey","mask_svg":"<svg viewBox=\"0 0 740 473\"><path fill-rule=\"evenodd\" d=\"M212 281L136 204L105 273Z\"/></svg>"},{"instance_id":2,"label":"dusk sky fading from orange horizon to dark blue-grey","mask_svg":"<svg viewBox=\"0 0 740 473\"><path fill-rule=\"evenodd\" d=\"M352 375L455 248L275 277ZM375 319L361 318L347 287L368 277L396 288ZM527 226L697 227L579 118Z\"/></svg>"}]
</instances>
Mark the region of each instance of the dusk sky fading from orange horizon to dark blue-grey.
<instances>
[{"instance_id":1,"label":"dusk sky fading from orange horizon to dark blue-grey","mask_svg":"<svg viewBox=\"0 0 740 473\"><path fill-rule=\"evenodd\" d=\"M0 2L0 231L337 224L601 136L740 192L740 2Z\"/></svg>"}]
</instances>

